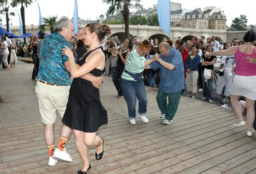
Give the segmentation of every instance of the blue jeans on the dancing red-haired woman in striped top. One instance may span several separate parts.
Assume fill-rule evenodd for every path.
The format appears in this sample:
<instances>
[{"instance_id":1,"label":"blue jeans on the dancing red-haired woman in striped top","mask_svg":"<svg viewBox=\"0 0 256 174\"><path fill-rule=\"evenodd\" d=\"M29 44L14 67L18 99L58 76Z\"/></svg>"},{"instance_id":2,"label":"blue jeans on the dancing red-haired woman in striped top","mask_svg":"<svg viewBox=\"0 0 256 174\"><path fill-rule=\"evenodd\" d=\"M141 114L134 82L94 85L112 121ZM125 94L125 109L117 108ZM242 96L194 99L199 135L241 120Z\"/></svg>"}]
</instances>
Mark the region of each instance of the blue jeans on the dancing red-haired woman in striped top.
<instances>
[{"instance_id":1,"label":"blue jeans on the dancing red-haired woman in striped top","mask_svg":"<svg viewBox=\"0 0 256 174\"><path fill-rule=\"evenodd\" d=\"M121 86L128 107L129 119L135 119L136 117L136 97L138 99L138 114L146 115L147 95L143 80L135 82L122 79Z\"/></svg>"}]
</instances>

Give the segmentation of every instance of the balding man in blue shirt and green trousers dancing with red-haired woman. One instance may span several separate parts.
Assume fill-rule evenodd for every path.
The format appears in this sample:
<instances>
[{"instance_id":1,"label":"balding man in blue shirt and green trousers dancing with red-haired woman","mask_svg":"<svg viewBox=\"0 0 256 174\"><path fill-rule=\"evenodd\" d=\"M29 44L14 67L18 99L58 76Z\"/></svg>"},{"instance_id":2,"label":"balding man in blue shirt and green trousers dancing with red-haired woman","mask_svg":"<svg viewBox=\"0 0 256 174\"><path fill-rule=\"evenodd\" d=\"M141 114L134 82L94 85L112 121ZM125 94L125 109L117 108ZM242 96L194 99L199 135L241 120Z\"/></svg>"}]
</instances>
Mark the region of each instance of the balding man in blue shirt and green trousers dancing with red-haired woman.
<instances>
[{"instance_id":1,"label":"balding man in blue shirt and green trousers dancing with red-haired woman","mask_svg":"<svg viewBox=\"0 0 256 174\"><path fill-rule=\"evenodd\" d=\"M161 110L160 120L163 120L162 124L169 125L173 122L173 117L179 106L181 91L184 89L184 66L180 52L171 48L168 43L161 43L159 51L159 55L154 55L156 61L146 68L154 70L160 68L160 85L156 101Z\"/></svg>"}]
</instances>

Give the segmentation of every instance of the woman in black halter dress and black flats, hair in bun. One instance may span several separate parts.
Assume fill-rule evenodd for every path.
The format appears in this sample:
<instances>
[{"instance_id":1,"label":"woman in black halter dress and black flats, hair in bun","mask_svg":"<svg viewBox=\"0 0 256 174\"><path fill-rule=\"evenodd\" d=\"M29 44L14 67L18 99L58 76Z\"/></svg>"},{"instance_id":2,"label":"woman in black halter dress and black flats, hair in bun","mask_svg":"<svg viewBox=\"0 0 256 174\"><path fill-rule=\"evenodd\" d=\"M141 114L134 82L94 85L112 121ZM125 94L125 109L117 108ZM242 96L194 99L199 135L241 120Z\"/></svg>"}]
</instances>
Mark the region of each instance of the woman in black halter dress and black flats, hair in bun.
<instances>
[{"instance_id":1,"label":"woman in black halter dress and black flats, hair in bun","mask_svg":"<svg viewBox=\"0 0 256 174\"><path fill-rule=\"evenodd\" d=\"M103 139L96 135L96 131L108 122L107 111L100 102L99 89L79 77L88 73L94 76L101 75L105 66L105 55L100 49L100 41L111 31L107 25L90 23L83 32L88 51L78 60L79 66L75 63L73 52L68 47L62 49L63 54L68 57L69 70L74 77L62 122L74 130L77 151L83 162L78 174L86 174L91 168L87 146L96 146L96 160L102 158Z\"/></svg>"}]
</instances>

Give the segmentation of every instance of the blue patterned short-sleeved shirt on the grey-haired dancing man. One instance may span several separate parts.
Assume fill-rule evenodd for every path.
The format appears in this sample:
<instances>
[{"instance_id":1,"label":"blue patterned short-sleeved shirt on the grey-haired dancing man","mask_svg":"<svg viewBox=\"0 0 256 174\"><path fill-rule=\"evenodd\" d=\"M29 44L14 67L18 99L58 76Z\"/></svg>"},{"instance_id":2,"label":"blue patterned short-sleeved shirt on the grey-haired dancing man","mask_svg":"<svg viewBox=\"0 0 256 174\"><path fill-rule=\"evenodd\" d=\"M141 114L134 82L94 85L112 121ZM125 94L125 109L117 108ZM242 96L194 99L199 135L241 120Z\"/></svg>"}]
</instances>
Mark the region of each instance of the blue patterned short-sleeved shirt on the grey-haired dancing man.
<instances>
[{"instance_id":1,"label":"blue patterned short-sleeved shirt on the grey-haired dancing man","mask_svg":"<svg viewBox=\"0 0 256 174\"><path fill-rule=\"evenodd\" d=\"M40 64L38 79L55 85L68 86L71 84L70 73L66 70L64 63L68 57L62 55L62 48L71 44L58 32L46 37L40 49Z\"/></svg>"}]
</instances>

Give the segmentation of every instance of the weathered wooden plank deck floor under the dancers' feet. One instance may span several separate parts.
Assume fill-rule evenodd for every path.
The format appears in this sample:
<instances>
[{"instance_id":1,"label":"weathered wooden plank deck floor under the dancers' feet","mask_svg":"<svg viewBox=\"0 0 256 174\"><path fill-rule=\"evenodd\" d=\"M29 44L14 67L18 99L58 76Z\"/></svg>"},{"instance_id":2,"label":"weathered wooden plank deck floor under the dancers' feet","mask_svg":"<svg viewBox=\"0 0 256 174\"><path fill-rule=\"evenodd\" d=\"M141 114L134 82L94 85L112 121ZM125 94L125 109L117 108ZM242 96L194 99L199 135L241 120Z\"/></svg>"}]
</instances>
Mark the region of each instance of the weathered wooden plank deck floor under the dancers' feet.
<instances>
[{"instance_id":1,"label":"weathered wooden plank deck floor under the dancers' feet","mask_svg":"<svg viewBox=\"0 0 256 174\"><path fill-rule=\"evenodd\" d=\"M0 71L0 173L75 174L82 163L72 133L67 151L73 163L47 165L48 152L31 80L32 64ZM104 156L88 151L88 174L256 174L256 134L247 137L246 126L233 128L235 113L200 100L181 97L174 122L163 126L156 103L157 89L147 88L149 123L129 124L124 98L116 98L110 77L100 87L109 124L98 131L104 139ZM58 143L60 117L55 125Z\"/></svg>"}]
</instances>

